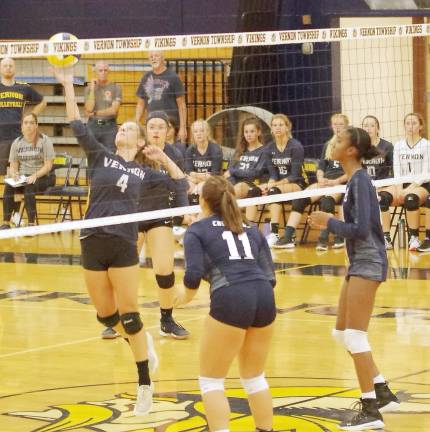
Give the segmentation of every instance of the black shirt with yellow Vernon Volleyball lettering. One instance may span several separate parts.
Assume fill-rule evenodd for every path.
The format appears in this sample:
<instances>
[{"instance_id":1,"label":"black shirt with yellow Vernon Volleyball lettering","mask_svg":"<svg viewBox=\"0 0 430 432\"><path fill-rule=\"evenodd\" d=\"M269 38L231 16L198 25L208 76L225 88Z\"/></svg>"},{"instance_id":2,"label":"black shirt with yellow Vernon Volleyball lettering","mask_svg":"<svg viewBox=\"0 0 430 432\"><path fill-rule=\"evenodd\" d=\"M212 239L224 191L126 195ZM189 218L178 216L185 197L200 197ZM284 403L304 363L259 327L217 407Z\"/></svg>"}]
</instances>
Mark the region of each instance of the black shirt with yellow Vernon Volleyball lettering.
<instances>
[{"instance_id":1,"label":"black shirt with yellow Vernon Volleyball lettering","mask_svg":"<svg viewBox=\"0 0 430 432\"><path fill-rule=\"evenodd\" d=\"M21 119L27 103L38 104L43 96L30 85L15 82L5 86L0 82L0 140L11 142L21 135Z\"/></svg>"}]
</instances>

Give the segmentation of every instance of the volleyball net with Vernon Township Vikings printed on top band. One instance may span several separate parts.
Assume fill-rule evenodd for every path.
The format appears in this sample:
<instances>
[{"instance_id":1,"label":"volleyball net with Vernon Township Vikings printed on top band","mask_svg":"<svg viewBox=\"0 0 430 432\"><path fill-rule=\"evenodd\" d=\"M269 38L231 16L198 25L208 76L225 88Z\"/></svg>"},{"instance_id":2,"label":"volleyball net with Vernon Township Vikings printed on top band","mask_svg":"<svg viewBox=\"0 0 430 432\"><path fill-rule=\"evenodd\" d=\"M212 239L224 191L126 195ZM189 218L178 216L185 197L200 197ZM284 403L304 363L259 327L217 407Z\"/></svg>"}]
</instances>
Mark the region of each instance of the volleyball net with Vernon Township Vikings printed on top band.
<instances>
[{"instance_id":1,"label":"volleyball net with Vernon Township Vikings printed on top band","mask_svg":"<svg viewBox=\"0 0 430 432\"><path fill-rule=\"evenodd\" d=\"M80 56L74 66L75 91L84 119L85 88L96 76L94 66L101 60L107 63L109 80L122 88L121 123L135 118L136 90L142 76L151 70L148 53L162 51L167 66L185 86L188 136L193 121L206 119L214 140L222 146L227 165L240 140L240 125L250 116L260 119L268 142L272 115L287 114L293 136L304 146L305 159L320 157L323 143L332 135L330 117L335 112L346 114L354 126L361 126L366 115L374 115L380 123L381 137L393 143L403 138L405 114L427 104L429 34L428 24L390 24L61 42L3 41L0 56L14 58L16 79L31 84L45 96L48 106L39 116L40 131L52 138L57 153L68 153L77 160L84 154L68 126L63 89L46 57ZM83 172L80 175L84 176ZM386 179L379 186L410 181ZM241 200L241 205L328 195L342 188L250 198ZM6 230L0 232L0 238L150 220L197 210L196 206L170 208L129 217L45 224Z\"/></svg>"}]
</instances>

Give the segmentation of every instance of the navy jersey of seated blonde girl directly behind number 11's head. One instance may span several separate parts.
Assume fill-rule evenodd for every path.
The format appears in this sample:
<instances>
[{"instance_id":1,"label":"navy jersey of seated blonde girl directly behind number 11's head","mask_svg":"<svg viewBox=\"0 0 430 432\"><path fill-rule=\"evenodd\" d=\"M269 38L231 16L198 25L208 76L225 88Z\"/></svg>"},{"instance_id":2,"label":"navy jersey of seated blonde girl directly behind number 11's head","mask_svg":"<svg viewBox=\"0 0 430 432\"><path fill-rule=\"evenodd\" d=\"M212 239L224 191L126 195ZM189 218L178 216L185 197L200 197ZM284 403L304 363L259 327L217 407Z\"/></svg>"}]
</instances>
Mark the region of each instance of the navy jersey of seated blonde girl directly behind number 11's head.
<instances>
[{"instance_id":1,"label":"navy jersey of seated blonde girl directly behind number 11's head","mask_svg":"<svg viewBox=\"0 0 430 432\"><path fill-rule=\"evenodd\" d=\"M201 154L196 145L190 145L185 152L185 172L220 174L222 150L218 144L209 142L206 152Z\"/></svg>"}]
</instances>

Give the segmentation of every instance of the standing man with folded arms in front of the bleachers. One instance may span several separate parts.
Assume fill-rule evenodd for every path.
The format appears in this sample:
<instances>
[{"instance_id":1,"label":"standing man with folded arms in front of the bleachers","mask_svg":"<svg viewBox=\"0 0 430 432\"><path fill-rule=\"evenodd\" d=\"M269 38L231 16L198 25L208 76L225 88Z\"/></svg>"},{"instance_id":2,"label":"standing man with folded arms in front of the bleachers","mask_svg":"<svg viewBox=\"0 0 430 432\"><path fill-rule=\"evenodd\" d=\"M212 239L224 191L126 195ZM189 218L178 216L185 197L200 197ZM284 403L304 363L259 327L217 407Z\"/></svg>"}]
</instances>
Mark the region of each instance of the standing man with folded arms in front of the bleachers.
<instances>
[{"instance_id":1,"label":"standing man with folded arms in front of the bleachers","mask_svg":"<svg viewBox=\"0 0 430 432\"><path fill-rule=\"evenodd\" d=\"M97 141L115 153L116 118L121 105L121 87L109 81L109 65L103 60L94 67L96 78L85 89L85 112L88 128Z\"/></svg>"}]
</instances>

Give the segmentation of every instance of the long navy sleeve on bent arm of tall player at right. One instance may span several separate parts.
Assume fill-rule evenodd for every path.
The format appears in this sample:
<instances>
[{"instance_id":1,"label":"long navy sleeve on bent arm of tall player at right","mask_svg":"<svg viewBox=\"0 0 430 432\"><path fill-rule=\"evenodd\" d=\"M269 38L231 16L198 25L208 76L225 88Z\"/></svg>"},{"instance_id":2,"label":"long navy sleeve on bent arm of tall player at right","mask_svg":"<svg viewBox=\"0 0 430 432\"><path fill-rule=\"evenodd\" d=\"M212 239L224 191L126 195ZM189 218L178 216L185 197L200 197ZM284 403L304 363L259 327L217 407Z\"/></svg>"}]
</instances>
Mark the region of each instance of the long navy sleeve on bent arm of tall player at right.
<instances>
[{"instance_id":1,"label":"long navy sleeve on bent arm of tall player at right","mask_svg":"<svg viewBox=\"0 0 430 432\"><path fill-rule=\"evenodd\" d=\"M328 230L338 236L364 240L370 232L370 203L372 186L365 177L355 178L350 185L354 205L353 222L342 222L334 217L328 221Z\"/></svg>"}]
</instances>

